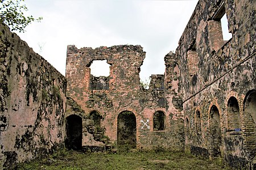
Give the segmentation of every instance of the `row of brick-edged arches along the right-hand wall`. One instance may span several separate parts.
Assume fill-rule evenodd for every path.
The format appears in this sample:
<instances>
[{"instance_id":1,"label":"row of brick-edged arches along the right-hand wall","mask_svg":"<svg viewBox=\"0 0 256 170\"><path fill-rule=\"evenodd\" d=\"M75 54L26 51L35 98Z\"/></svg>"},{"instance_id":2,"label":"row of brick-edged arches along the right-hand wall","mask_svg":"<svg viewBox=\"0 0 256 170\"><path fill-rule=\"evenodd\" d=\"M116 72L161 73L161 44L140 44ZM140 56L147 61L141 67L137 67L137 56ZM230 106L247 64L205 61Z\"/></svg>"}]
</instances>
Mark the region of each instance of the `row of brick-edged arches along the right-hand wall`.
<instances>
[{"instance_id":1,"label":"row of brick-edged arches along the right-hand wall","mask_svg":"<svg viewBox=\"0 0 256 170\"><path fill-rule=\"evenodd\" d=\"M256 90L247 92L242 106L235 96L230 96L223 113L216 105L210 105L208 115L208 132L210 135L210 156L220 155L221 128L224 133L242 134L245 145L249 146L249 152L256 149ZM241 108L240 108L241 106ZM221 114L220 114L221 113ZM191 121L192 123L192 121ZM196 109L194 130L197 135L201 135L201 111ZM189 133L189 119L185 118L185 133ZM186 135L187 139L187 135ZM248 149L247 149L248 150ZM255 154L255 153L254 153Z\"/></svg>"}]
</instances>

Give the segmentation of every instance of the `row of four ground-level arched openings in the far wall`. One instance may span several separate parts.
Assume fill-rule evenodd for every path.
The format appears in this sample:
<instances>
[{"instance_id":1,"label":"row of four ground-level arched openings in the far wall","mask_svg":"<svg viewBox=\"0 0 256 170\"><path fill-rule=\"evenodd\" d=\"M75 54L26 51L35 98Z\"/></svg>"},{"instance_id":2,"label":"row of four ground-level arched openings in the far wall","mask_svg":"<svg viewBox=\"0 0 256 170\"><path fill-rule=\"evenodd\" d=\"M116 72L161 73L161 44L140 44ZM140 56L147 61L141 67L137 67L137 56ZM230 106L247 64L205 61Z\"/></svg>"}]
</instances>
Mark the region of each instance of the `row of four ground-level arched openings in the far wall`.
<instances>
[{"instance_id":1,"label":"row of four ground-level arched openings in the far wall","mask_svg":"<svg viewBox=\"0 0 256 170\"><path fill-rule=\"evenodd\" d=\"M89 113L95 127L101 126L102 116L97 111ZM154 131L165 130L166 115L162 111L153 114ZM65 145L69 149L81 150L82 147L82 118L72 114L66 118L67 139ZM135 114L130 111L123 111L117 117L117 143L118 145L135 148L137 145L137 121Z\"/></svg>"}]
</instances>

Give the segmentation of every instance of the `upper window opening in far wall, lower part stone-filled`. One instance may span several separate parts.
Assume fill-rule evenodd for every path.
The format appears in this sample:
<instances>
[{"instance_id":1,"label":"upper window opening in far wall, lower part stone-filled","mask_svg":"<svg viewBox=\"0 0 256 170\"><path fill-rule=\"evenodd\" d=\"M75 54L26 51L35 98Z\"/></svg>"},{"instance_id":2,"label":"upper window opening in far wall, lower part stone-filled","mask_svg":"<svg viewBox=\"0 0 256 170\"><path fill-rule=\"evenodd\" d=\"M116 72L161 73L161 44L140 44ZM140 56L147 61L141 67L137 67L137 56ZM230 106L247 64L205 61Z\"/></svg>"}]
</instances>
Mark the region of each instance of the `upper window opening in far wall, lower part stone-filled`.
<instances>
[{"instance_id":1,"label":"upper window opening in far wall, lower part stone-filled","mask_svg":"<svg viewBox=\"0 0 256 170\"><path fill-rule=\"evenodd\" d=\"M110 65L105 60L94 60L90 65L90 90L109 90Z\"/></svg>"}]
</instances>

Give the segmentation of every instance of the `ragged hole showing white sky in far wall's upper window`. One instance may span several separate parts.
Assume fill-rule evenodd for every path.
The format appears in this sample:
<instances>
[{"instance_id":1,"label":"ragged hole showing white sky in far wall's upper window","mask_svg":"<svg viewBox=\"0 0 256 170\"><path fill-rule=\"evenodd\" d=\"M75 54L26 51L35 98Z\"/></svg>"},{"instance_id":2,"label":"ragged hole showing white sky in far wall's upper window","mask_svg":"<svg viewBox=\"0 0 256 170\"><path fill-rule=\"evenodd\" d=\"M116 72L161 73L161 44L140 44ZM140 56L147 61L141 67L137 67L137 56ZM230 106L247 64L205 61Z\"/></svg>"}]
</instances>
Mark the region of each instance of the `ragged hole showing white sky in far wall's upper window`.
<instances>
[{"instance_id":1,"label":"ragged hole showing white sky in far wall's upper window","mask_svg":"<svg viewBox=\"0 0 256 170\"><path fill-rule=\"evenodd\" d=\"M110 64L106 59L94 60L90 65L90 74L93 76L109 76L110 75Z\"/></svg>"}]
</instances>

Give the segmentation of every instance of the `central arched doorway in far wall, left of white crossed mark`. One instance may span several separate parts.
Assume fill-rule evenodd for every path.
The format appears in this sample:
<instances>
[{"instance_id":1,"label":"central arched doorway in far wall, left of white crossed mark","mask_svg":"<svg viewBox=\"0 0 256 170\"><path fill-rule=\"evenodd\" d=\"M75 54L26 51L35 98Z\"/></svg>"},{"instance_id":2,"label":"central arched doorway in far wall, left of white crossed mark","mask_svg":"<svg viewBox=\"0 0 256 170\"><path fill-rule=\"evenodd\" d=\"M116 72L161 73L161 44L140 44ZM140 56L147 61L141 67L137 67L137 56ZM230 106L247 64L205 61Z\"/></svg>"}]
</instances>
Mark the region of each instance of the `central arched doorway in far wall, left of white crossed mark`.
<instances>
[{"instance_id":1,"label":"central arched doorway in far wall, left of white crossed mark","mask_svg":"<svg viewBox=\"0 0 256 170\"><path fill-rule=\"evenodd\" d=\"M136 148L136 117L123 111L117 117L117 144L119 147Z\"/></svg>"}]
</instances>

